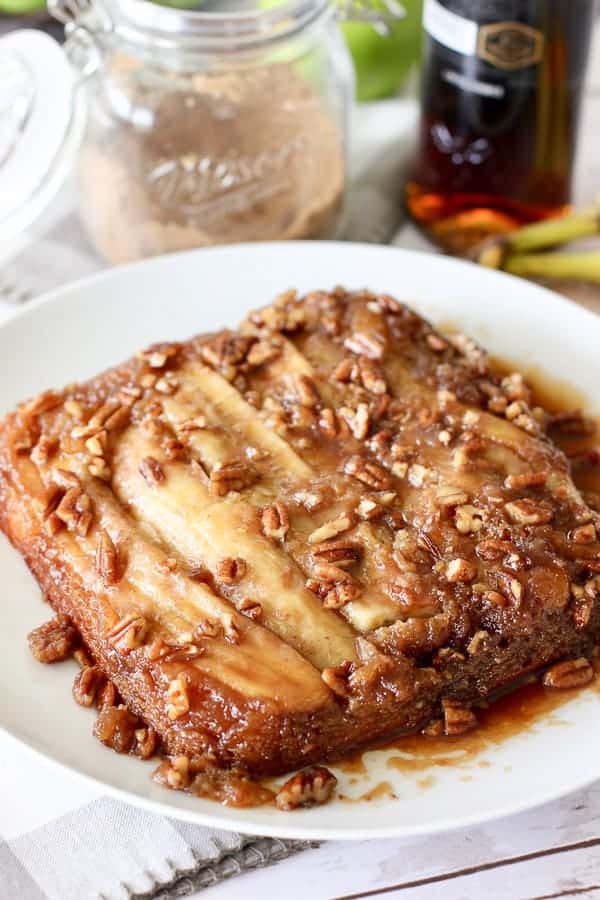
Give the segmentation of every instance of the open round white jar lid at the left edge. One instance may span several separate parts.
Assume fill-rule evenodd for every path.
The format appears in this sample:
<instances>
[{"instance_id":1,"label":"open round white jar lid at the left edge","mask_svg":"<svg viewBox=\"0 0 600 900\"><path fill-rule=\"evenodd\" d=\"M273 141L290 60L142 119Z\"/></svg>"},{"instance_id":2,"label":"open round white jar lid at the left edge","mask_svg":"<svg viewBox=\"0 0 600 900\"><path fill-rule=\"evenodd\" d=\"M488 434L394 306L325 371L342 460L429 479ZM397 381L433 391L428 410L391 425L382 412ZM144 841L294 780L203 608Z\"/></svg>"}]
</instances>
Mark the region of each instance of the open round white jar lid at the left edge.
<instances>
[{"instance_id":1,"label":"open round white jar lid at the left edge","mask_svg":"<svg viewBox=\"0 0 600 900\"><path fill-rule=\"evenodd\" d=\"M83 130L80 93L49 35L0 38L0 241L37 219L67 177Z\"/></svg>"}]
</instances>

